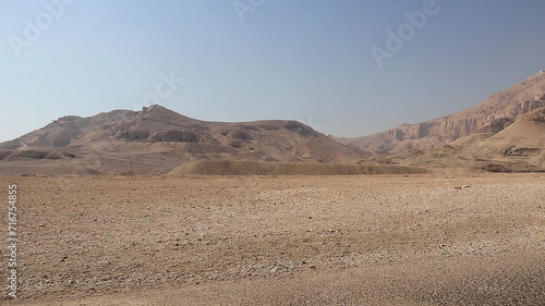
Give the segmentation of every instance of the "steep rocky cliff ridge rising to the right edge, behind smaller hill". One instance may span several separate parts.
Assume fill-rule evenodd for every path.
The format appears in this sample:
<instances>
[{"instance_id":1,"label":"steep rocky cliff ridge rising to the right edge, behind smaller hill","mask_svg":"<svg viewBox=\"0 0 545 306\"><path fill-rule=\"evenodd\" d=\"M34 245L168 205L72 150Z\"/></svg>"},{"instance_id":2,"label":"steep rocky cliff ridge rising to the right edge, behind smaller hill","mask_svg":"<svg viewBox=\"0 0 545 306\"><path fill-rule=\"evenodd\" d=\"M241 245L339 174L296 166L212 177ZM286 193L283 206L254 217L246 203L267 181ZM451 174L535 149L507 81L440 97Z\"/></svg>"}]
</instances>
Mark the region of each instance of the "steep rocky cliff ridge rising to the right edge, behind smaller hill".
<instances>
[{"instance_id":1,"label":"steep rocky cliff ridge rising to the right edge, behind smaller hill","mask_svg":"<svg viewBox=\"0 0 545 306\"><path fill-rule=\"evenodd\" d=\"M339 142L390 154L431 149L473 133L498 133L519 117L545 107L545 73L535 74L470 109L416 124Z\"/></svg>"}]
</instances>

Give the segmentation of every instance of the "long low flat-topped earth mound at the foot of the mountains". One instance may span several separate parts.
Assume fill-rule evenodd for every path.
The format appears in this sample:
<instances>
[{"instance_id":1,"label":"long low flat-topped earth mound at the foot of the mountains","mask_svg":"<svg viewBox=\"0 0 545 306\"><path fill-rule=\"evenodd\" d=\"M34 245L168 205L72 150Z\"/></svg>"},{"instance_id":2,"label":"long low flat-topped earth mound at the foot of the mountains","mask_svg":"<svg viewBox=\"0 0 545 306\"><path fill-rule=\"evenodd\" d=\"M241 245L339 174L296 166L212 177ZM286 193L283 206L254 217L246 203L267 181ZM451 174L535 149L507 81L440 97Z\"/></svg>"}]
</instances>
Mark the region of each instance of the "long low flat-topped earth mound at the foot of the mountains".
<instances>
[{"instance_id":1,"label":"long low flat-topped earth mound at the foot of the mountains","mask_svg":"<svg viewBox=\"0 0 545 306\"><path fill-rule=\"evenodd\" d=\"M358 175L358 174L419 174L424 169L401 166L334 164L199 160L183 163L171 175Z\"/></svg>"}]
</instances>

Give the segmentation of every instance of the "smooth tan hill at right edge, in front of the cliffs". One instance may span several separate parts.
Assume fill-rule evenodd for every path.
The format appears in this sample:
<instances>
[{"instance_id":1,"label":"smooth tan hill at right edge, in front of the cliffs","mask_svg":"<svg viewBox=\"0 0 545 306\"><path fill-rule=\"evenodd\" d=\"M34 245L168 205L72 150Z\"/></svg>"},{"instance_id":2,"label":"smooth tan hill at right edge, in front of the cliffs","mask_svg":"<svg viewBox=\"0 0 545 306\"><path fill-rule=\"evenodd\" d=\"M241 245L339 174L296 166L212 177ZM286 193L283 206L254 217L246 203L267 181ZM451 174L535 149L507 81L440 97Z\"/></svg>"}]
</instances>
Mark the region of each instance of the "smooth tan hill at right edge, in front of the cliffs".
<instances>
[{"instance_id":1,"label":"smooth tan hill at right edge, in front of the cliffs","mask_svg":"<svg viewBox=\"0 0 545 306\"><path fill-rule=\"evenodd\" d=\"M545 107L519 115L499 133L475 132L448 145L390 157L411 167L473 168L493 172L545 171Z\"/></svg>"}]
</instances>

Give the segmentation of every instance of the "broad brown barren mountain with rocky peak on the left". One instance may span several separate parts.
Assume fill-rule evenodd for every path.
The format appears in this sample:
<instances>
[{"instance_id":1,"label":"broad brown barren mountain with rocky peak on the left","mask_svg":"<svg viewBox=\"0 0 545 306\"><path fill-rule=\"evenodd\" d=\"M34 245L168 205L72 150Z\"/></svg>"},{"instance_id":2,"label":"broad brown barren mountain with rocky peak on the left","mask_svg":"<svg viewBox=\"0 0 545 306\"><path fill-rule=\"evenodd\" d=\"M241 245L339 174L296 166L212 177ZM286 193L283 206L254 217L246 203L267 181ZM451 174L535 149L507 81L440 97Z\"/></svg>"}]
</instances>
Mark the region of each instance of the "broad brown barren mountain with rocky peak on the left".
<instances>
[{"instance_id":1,"label":"broad brown barren mountain with rocky peak on the left","mask_svg":"<svg viewBox=\"0 0 545 306\"><path fill-rule=\"evenodd\" d=\"M0 144L3 173L167 173L203 159L338 163L361 158L300 122L205 122L160 106L68 115Z\"/></svg>"}]
</instances>

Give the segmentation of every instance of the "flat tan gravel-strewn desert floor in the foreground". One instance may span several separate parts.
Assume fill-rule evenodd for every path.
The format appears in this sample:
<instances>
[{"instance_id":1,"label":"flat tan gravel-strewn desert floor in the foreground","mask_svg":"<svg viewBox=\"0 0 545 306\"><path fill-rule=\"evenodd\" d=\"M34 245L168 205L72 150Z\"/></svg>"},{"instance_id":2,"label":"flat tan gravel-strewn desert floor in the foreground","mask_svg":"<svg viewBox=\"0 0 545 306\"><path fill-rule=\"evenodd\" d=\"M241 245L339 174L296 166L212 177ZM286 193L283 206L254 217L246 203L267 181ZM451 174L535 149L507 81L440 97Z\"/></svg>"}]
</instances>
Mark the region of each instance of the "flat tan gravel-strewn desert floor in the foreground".
<instances>
[{"instance_id":1,"label":"flat tan gravel-strewn desert floor in the foreground","mask_svg":"<svg viewBox=\"0 0 545 306\"><path fill-rule=\"evenodd\" d=\"M545 174L0 176L1 305L545 305Z\"/></svg>"}]
</instances>

